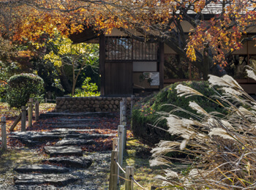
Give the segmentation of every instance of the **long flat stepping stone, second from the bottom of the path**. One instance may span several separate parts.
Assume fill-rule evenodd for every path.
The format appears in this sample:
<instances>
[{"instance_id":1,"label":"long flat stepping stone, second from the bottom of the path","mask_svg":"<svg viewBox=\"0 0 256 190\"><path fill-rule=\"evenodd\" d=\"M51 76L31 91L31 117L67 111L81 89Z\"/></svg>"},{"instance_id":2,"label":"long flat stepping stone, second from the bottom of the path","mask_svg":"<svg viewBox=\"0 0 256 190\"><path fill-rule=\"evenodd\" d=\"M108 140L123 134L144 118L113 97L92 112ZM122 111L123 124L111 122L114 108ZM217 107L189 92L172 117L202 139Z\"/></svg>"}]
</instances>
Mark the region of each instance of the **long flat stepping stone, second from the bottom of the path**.
<instances>
[{"instance_id":1,"label":"long flat stepping stone, second from the bottom of the path","mask_svg":"<svg viewBox=\"0 0 256 190\"><path fill-rule=\"evenodd\" d=\"M69 172L67 167L59 167L48 164L31 164L24 165L15 168L16 172L28 173L28 172L39 172L39 173L64 173Z\"/></svg>"}]
</instances>

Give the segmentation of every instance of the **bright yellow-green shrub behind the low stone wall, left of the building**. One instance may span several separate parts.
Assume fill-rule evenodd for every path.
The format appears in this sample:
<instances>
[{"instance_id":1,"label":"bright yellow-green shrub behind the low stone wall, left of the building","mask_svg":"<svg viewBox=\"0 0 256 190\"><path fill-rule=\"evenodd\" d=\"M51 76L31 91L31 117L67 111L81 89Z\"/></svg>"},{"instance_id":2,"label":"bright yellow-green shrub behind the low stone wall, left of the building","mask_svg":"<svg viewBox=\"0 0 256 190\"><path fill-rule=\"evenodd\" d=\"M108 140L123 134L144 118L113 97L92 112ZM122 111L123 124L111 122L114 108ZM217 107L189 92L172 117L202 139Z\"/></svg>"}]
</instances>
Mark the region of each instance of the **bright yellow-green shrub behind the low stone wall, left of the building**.
<instances>
[{"instance_id":1,"label":"bright yellow-green shrub behind the low stone wall, left of the building","mask_svg":"<svg viewBox=\"0 0 256 190\"><path fill-rule=\"evenodd\" d=\"M91 77L86 77L83 81L82 89L76 88L74 97L99 96L98 86L96 83L89 83Z\"/></svg>"}]
</instances>

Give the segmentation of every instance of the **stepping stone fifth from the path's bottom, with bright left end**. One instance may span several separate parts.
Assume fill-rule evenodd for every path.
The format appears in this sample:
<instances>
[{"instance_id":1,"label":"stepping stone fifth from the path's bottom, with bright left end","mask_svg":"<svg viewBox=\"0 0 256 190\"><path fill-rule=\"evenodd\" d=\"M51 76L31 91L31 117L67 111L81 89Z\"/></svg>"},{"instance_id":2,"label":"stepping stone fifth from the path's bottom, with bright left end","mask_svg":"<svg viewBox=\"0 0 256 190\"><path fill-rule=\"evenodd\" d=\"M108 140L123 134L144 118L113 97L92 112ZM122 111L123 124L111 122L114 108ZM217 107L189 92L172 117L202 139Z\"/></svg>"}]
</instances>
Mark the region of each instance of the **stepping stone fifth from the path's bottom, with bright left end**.
<instances>
[{"instance_id":1,"label":"stepping stone fifth from the path's bottom, with bright left end","mask_svg":"<svg viewBox=\"0 0 256 190\"><path fill-rule=\"evenodd\" d=\"M74 139L74 138L64 138L56 142L56 146L64 145L95 145L97 144L94 140L84 140L84 139Z\"/></svg>"}]
</instances>

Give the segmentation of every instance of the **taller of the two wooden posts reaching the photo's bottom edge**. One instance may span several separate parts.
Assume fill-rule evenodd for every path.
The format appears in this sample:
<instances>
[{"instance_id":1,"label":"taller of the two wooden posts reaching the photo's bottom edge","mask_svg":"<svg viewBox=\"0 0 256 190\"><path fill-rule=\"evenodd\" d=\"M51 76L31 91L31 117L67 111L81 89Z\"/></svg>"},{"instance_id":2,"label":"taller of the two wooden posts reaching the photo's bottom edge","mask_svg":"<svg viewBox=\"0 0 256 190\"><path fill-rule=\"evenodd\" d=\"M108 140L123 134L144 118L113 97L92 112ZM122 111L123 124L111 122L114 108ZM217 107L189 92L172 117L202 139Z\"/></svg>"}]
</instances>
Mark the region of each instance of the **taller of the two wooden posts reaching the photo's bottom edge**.
<instances>
[{"instance_id":1,"label":"taller of the two wooden posts reaching the photo's bottom edge","mask_svg":"<svg viewBox=\"0 0 256 190\"><path fill-rule=\"evenodd\" d=\"M109 181L109 189L116 190L118 183L118 165L116 161L118 161L118 151L112 151L111 153L111 164L110 164L110 181Z\"/></svg>"}]
</instances>

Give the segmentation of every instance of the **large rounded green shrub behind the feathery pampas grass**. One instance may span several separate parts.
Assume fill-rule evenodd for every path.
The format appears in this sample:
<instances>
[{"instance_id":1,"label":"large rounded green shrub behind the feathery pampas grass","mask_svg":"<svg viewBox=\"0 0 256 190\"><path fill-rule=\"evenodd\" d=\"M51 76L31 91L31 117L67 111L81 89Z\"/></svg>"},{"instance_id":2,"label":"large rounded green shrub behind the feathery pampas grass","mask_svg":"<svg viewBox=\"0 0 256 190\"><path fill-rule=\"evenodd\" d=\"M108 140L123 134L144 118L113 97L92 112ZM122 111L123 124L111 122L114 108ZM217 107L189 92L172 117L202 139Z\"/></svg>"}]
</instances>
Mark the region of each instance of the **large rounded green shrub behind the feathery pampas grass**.
<instances>
[{"instance_id":1,"label":"large rounded green shrub behind the feathery pampas grass","mask_svg":"<svg viewBox=\"0 0 256 190\"><path fill-rule=\"evenodd\" d=\"M160 140L174 140L177 137L170 135L167 130L167 121L165 119L159 119L161 115L159 112L169 113L176 107L181 107L191 113L195 113L195 110L190 108L189 102L197 102L204 110L208 113L217 111L223 113L222 107L219 107L214 102L211 102L206 97L202 96L189 96L185 98L184 96L177 96L176 86L178 84L183 84L184 86L189 86L204 94L205 96L213 96L216 94L214 89L210 88L208 82L201 81L188 81L182 83L174 83L170 86L159 91L157 94L151 94L146 98L137 102L132 110L132 132L135 137L140 138L144 143L154 146ZM172 106L173 104L175 106ZM193 116L184 111L176 111L173 113L183 118L192 118ZM153 125L153 126L152 126ZM154 127L156 125L157 127ZM159 129L161 128L161 129ZM162 130L165 129L165 130Z\"/></svg>"}]
</instances>

